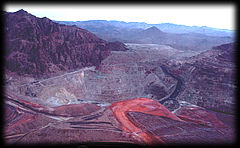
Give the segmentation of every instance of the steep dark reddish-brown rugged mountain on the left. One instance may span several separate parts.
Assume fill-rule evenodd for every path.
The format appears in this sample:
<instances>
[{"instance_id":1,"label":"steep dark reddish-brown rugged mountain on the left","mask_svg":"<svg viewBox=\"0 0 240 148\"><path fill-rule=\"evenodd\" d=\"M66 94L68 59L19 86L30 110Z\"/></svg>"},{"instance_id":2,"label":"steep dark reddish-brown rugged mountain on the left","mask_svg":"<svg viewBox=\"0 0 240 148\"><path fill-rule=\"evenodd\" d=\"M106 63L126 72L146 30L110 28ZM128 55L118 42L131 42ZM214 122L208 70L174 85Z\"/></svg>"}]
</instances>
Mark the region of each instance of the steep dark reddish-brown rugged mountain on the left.
<instances>
[{"instance_id":1,"label":"steep dark reddish-brown rugged mountain on the left","mask_svg":"<svg viewBox=\"0 0 240 148\"><path fill-rule=\"evenodd\" d=\"M24 10L4 13L6 69L34 77L98 66L111 50L127 50L76 26L37 18Z\"/></svg>"}]
</instances>

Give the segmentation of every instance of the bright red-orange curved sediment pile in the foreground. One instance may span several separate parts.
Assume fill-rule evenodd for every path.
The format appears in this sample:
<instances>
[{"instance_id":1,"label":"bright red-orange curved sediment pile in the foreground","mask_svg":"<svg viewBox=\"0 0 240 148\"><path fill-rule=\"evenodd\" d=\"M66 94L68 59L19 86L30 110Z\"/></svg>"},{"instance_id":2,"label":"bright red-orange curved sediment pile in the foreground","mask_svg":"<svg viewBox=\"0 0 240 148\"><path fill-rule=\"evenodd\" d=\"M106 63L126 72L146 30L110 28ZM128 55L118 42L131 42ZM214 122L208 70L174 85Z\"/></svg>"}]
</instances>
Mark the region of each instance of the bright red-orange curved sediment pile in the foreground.
<instances>
[{"instance_id":1,"label":"bright red-orange curved sediment pile in the foreground","mask_svg":"<svg viewBox=\"0 0 240 148\"><path fill-rule=\"evenodd\" d=\"M139 138L140 142L152 144L152 143L165 143L159 137L150 134L137 127L127 116L127 112L142 112L156 116L167 117L173 120L182 121L176 115L171 113L167 108L158 103L155 100L149 98L136 98L125 100L121 102L113 103L110 106L115 118L122 124L122 129L125 132L133 133Z\"/></svg>"}]
</instances>

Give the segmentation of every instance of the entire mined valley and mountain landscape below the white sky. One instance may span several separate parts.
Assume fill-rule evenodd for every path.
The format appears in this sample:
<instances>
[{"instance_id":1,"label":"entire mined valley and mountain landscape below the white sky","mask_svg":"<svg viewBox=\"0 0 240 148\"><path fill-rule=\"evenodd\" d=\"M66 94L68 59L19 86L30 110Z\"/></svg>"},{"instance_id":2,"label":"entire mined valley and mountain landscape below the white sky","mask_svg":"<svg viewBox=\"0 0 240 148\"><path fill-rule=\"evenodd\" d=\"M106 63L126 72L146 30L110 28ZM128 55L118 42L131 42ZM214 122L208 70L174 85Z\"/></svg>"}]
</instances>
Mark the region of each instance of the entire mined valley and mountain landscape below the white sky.
<instances>
[{"instance_id":1,"label":"entire mined valley and mountain landscape below the white sky","mask_svg":"<svg viewBox=\"0 0 240 148\"><path fill-rule=\"evenodd\" d=\"M4 12L6 144L232 144L234 32Z\"/></svg>"}]
</instances>

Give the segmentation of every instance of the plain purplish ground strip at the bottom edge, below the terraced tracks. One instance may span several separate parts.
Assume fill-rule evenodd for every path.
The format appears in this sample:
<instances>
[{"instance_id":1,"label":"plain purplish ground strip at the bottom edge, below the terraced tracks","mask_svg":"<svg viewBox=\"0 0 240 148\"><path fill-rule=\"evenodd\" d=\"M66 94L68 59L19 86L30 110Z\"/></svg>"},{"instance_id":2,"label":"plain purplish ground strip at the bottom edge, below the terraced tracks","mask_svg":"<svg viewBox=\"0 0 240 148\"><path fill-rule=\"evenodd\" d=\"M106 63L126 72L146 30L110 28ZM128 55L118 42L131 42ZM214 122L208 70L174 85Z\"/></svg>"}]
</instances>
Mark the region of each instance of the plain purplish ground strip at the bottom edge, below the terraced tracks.
<instances>
[{"instance_id":1,"label":"plain purplish ground strip at the bottom edge, below the terraced tracks","mask_svg":"<svg viewBox=\"0 0 240 148\"><path fill-rule=\"evenodd\" d=\"M77 129L47 127L23 137L20 144L74 144L83 142L122 142L134 143L134 139L122 132L101 129Z\"/></svg>"}]
</instances>

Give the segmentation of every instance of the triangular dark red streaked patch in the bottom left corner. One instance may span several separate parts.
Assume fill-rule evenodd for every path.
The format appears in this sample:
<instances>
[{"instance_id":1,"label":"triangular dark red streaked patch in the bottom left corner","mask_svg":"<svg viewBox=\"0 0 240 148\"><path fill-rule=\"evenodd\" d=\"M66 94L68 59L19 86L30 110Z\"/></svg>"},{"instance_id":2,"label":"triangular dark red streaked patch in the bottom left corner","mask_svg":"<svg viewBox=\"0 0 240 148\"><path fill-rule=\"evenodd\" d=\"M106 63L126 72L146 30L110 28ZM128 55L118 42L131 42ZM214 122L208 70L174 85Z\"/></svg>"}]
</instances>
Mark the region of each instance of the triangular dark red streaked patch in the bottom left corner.
<instances>
[{"instance_id":1,"label":"triangular dark red streaked patch in the bottom left corner","mask_svg":"<svg viewBox=\"0 0 240 148\"><path fill-rule=\"evenodd\" d=\"M7 143L17 142L22 136L56 121L15 105L5 104L4 139Z\"/></svg>"}]
</instances>

